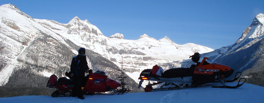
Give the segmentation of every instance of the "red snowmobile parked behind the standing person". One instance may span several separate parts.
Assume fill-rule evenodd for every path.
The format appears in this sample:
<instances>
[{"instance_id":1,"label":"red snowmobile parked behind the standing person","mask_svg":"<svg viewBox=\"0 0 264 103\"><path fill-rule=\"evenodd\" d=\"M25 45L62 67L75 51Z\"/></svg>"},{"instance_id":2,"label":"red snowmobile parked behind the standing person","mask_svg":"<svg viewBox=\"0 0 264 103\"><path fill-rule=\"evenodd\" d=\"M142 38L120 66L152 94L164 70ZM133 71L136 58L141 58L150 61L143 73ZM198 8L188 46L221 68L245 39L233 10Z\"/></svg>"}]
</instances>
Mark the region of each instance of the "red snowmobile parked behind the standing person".
<instances>
[{"instance_id":1,"label":"red snowmobile parked behind the standing person","mask_svg":"<svg viewBox=\"0 0 264 103\"><path fill-rule=\"evenodd\" d=\"M67 76L67 72L65 74ZM71 78L70 76L68 77ZM121 86L121 83L107 77L106 73L97 67L94 67L93 70L89 70L89 74L85 76L82 81L83 95L92 95L95 94L95 92L108 91L113 95L123 94L130 91L128 88L118 90L117 88ZM73 86L74 80L66 77L57 79L57 76L53 74L50 76L50 80L48 80L46 87L58 89L51 94L52 97L67 97L72 96L71 92Z\"/></svg>"}]
</instances>

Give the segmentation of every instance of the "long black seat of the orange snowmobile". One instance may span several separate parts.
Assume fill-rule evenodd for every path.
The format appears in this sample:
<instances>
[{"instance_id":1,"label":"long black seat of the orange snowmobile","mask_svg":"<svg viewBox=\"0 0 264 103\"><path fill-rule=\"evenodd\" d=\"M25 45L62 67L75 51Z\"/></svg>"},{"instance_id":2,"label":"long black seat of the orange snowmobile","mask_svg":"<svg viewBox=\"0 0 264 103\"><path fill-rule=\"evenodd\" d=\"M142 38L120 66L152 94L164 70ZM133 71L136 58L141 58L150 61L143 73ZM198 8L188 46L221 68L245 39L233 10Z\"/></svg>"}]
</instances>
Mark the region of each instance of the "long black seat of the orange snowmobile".
<instances>
[{"instance_id":1,"label":"long black seat of the orange snowmobile","mask_svg":"<svg viewBox=\"0 0 264 103\"><path fill-rule=\"evenodd\" d=\"M193 76L194 69L195 67L168 69L161 75L161 78L179 78Z\"/></svg>"}]
</instances>

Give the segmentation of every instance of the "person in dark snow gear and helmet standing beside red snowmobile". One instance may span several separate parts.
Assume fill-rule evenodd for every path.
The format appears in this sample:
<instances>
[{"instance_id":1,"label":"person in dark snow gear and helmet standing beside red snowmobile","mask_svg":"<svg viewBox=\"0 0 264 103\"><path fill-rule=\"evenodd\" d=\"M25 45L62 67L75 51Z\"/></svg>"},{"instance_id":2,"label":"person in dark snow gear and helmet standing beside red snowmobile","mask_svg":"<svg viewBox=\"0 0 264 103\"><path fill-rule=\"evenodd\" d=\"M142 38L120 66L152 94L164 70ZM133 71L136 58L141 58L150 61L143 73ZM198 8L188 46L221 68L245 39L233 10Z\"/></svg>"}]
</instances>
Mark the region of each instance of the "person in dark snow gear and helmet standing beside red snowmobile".
<instances>
[{"instance_id":1,"label":"person in dark snow gear and helmet standing beside red snowmobile","mask_svg":"<svg viewBox=\"0 0 264 103\"><path fill-rule=\"evenodd\" d=\"M84 99L82 95L82 80L85 76L85 71L89 71L88 63L85 55L85 48L79 48L78 55L72 58L71 62L71 74L70 76L74 78L75 84L72 88L72 97L78 97L79 99Z\"/></svg>"}]
</instances>

